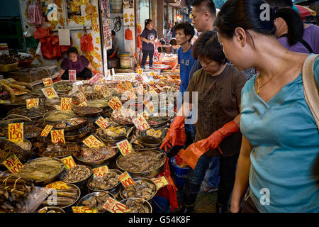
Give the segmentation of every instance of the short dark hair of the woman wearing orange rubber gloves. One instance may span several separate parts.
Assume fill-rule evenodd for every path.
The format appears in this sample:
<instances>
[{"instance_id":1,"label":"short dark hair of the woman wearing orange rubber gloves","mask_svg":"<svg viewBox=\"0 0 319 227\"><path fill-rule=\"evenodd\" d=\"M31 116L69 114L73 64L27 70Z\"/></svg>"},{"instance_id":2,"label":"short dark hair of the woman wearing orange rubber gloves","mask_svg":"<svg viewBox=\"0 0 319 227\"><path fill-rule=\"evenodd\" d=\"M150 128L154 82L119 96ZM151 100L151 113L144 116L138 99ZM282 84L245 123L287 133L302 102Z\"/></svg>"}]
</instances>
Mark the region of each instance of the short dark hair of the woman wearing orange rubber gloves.
<instances>
[{"instance_id":1,"label":"short dark hair of the woman wearing orange rubber gloves","mask_svg":"<svg viewBox=\"0 0 319 227\"><path fill-rule=\"evenodd\" d=\"M206 31L199 35L198 39L193 45L193 57L205 57L209 60L214 60L223 65L227 62L223 48L218 41L216 31Z\"/></svg>"}]
</instances>

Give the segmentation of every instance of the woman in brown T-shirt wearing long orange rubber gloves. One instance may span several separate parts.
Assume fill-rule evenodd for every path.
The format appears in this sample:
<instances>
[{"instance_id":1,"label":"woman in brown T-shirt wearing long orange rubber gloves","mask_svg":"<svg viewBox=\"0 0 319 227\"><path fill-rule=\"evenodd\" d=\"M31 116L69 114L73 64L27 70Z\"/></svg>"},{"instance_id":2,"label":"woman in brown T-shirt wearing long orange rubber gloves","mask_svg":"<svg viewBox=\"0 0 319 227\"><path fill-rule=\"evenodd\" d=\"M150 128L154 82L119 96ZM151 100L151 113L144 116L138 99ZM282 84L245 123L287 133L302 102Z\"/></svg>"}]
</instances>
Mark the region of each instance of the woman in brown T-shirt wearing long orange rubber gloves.
<instances>
[{"instance_id":1,"label":"woman in brown T-shirt wearing long orange rubber gloves","mask_svg":"<svg viewBox=\"0 0 319 227\"><path fill-rule=\"evenodd\" d=\"M195 137L197 143L194 145L198 146L198 141L203 143L205 140L207 152L198 159L194 170L189 170L182 190L183 209L181 211L191 212L194 209L196 196L208 165L212 157L220 157L216 212L222 213L227 211L228 200L235 182L235 167L241 142L241 134L238 132L240 94L246 78L242 72L226 63L216 31L207 31L199 36L194 44L193 55L201 61L203 68L191 77L186 91L191 92L190 98L193 92L198 95ZM184 107L191 110L194 105L191 99L184 100L161 148L170 147L174 145L175 140L179 140L177 131L184 123L185 117L189 116L189 111L184 111ZM220 134L223 136L219 136ZM218 143L213 145L211 143L213 140L218 140ZM223 151L223 155L220 154L218 147Z\"/></svg>"}]
</instances>

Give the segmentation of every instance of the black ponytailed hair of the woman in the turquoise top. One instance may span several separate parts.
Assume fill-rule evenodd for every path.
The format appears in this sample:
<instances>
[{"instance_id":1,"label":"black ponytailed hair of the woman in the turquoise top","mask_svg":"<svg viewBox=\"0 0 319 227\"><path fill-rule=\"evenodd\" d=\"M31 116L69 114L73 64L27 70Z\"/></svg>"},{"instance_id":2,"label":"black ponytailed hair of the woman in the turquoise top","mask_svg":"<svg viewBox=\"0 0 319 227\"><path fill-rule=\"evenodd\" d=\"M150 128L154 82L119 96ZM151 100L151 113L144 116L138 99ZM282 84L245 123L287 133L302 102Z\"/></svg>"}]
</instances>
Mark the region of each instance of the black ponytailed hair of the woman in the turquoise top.
<instances>
[{"instance_id":1,"label":"black ponytailed hair of the woman in the turquoise top","mask_svg":"<svg viewBox=\"0 0 319 227\"><path fill-rule=\"evenodd\" d=\"M269 18L267 18L269 9ZM262 0L228 0L220 9L214 23L217 31L228 38L233 38L235 28L251 29L264 35L274 35L274 20L284 19L288 26L289 45L298 43L303 37L303 20L299 13L289 8L272 8Z\"/></svg>"}]
</instances>

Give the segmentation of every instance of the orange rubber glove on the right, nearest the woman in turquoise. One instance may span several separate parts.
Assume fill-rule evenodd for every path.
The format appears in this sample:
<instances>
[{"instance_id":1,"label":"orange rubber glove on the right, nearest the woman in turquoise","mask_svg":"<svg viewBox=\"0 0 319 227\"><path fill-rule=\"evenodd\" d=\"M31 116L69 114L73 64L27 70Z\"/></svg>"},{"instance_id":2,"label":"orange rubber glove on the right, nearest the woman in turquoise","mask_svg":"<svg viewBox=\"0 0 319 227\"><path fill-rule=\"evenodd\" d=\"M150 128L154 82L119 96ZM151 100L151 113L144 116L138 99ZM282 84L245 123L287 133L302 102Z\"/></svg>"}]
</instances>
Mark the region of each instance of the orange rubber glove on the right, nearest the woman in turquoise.
<instances>
[{"instance_id":1,"label":"orange rubber glove on the right, nearest the woman in turquoise","mask_svg":"<svg viewBox=\"0 0 319 227\"><path fill-rule=\"evenodd\" d=\"M199 140L197 143L202 141L203 143L201 144L200 148L205 148L206 151L210 149L216 149L225 137L233 133L237 133L238 131L239 128L235 121L230 121L225 123L225 125L218 129L218 131L213 132L213 134L211 134L208 138Z\"/></svg>"}]
</instances>

